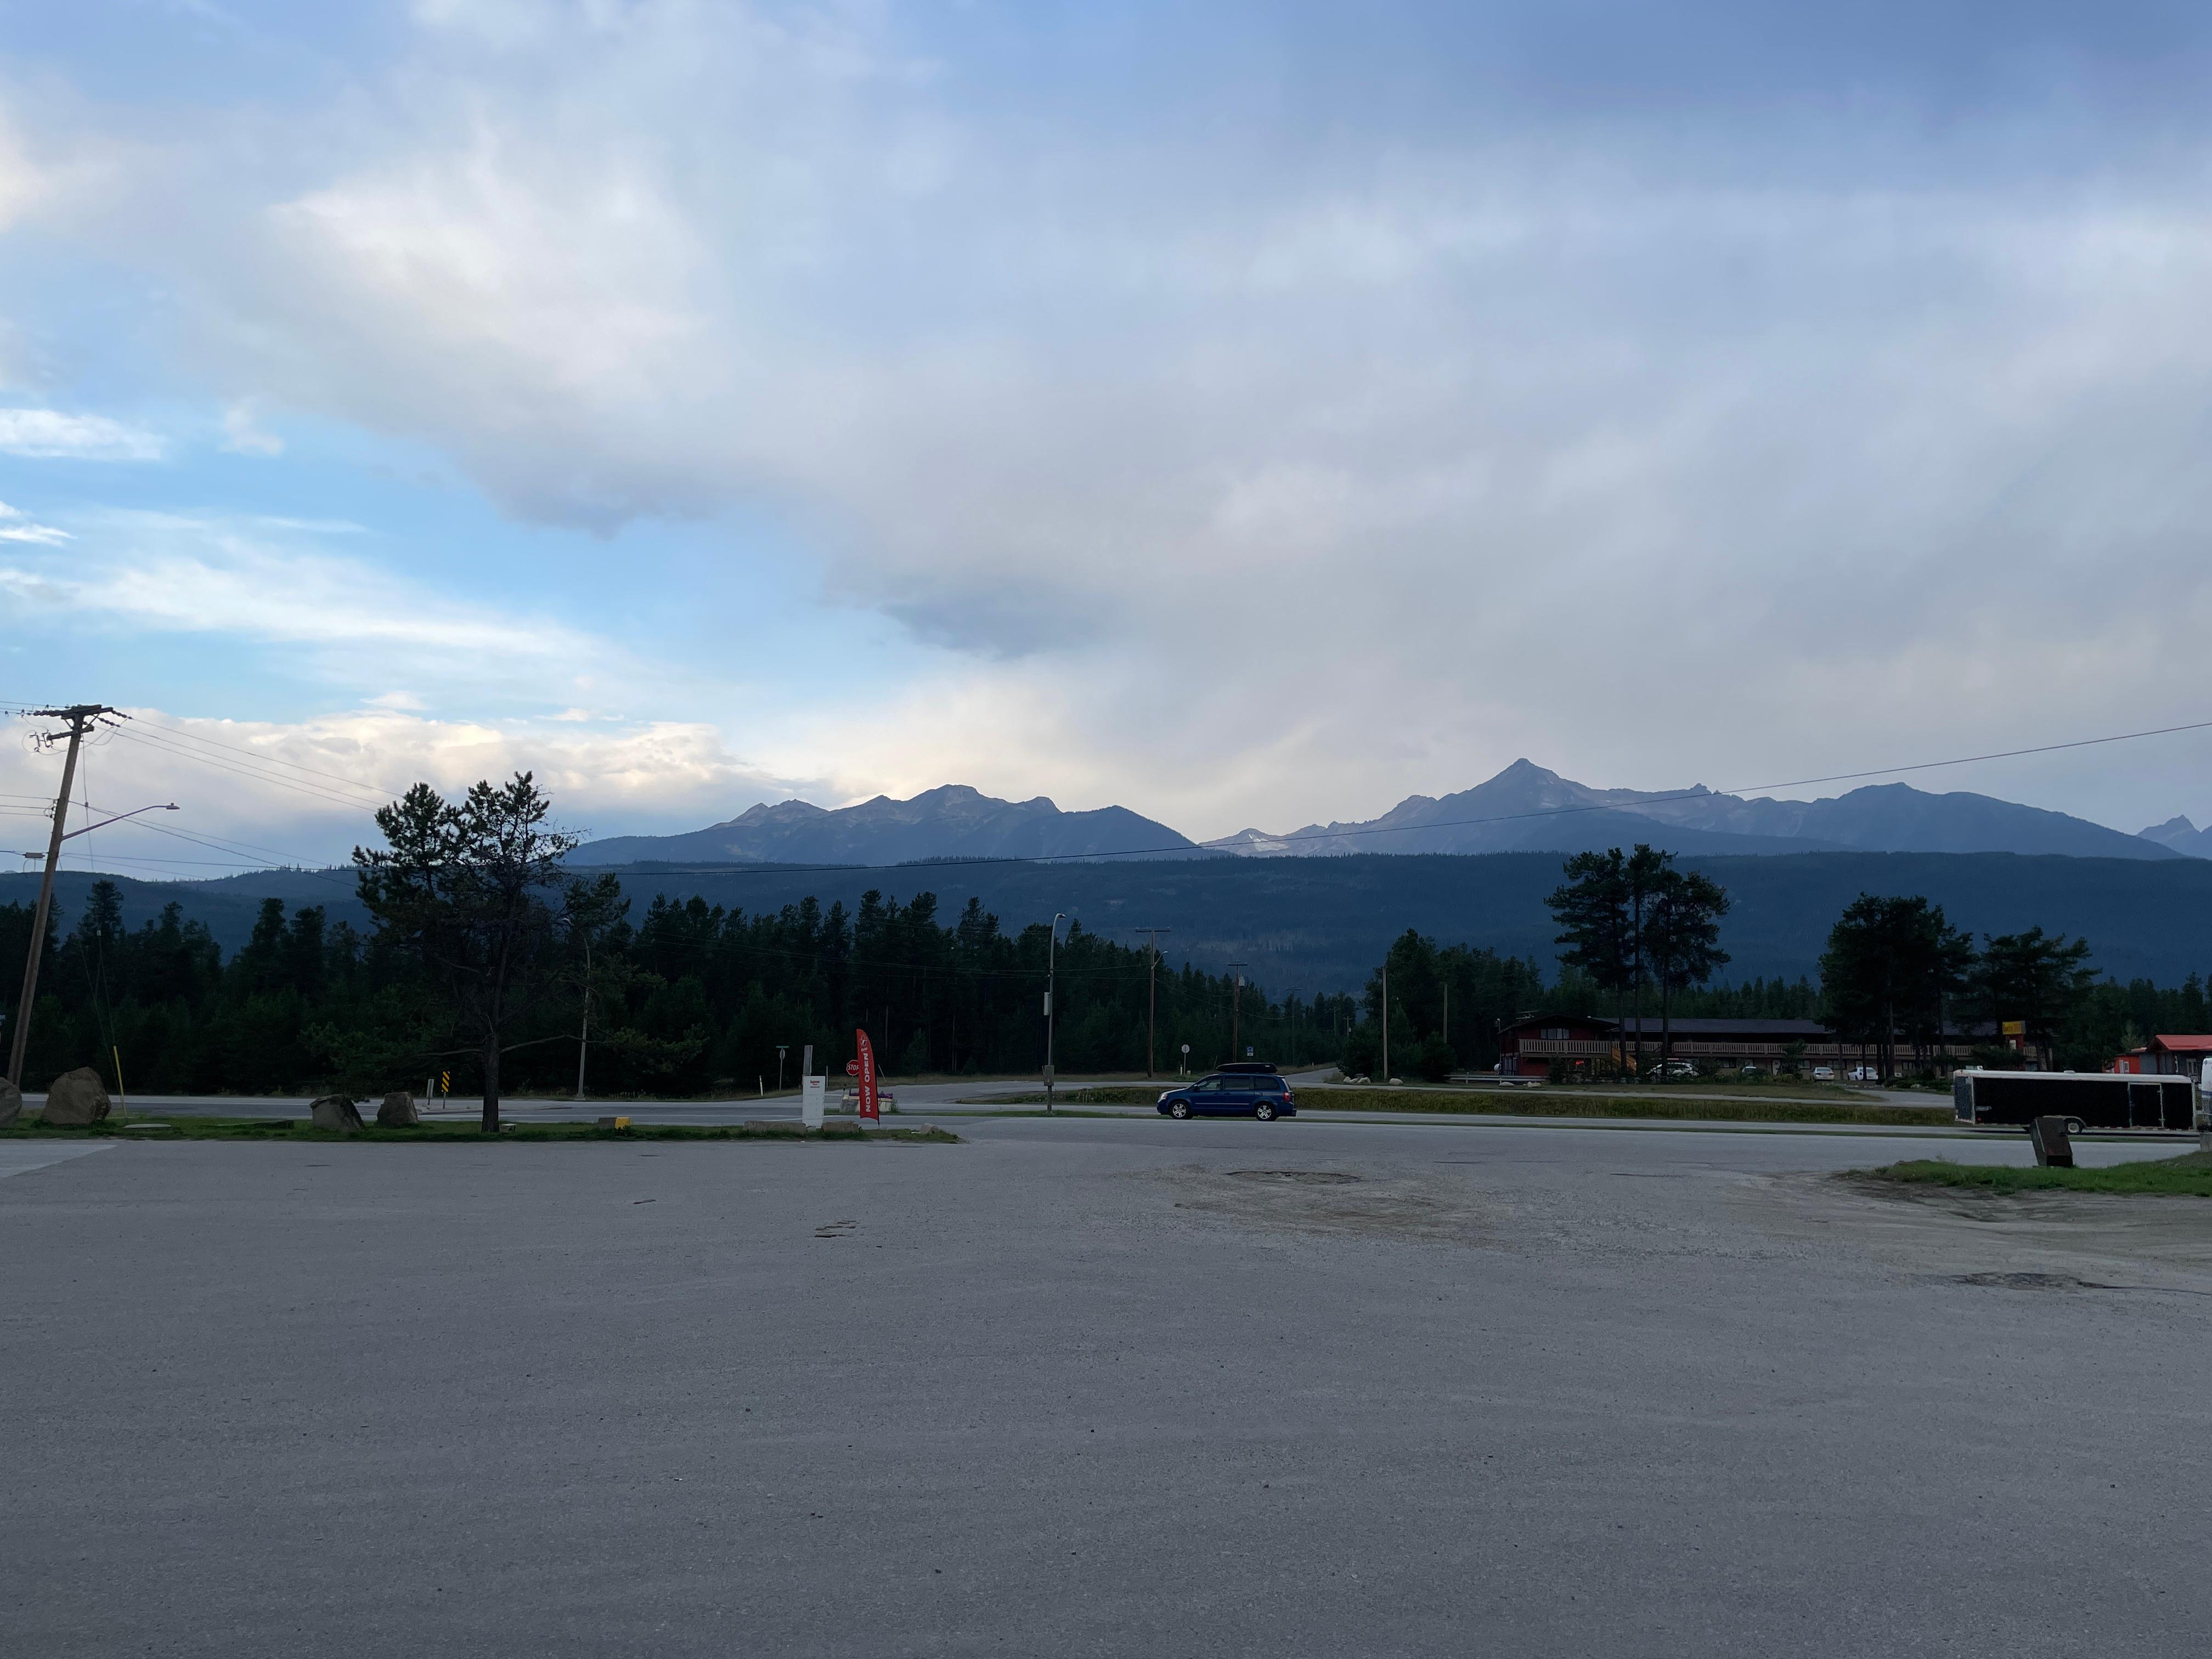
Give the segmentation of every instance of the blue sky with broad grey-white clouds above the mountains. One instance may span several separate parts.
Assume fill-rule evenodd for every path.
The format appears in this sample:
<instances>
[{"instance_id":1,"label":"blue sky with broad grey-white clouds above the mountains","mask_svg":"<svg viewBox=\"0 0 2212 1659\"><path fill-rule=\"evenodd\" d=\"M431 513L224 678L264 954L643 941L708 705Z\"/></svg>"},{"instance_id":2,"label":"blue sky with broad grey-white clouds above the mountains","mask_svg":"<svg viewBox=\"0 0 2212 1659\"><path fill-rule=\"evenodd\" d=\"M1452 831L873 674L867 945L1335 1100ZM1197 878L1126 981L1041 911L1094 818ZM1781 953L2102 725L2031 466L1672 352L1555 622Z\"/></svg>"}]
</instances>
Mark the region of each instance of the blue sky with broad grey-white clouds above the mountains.
<instances>
[{"instance_id":1,"label":"blue sky with broad grey-white clouds above the mountains","mask_svg":"<svg viewBox=\"0 0 2212 1659\"><path fill-rule=\"evenodd\" d=\"M0 701L133 717L142 874L518 768L1217 836L2212 721L2208 69L2126 0L0 0Z\"/></svg>"}]
</instances>

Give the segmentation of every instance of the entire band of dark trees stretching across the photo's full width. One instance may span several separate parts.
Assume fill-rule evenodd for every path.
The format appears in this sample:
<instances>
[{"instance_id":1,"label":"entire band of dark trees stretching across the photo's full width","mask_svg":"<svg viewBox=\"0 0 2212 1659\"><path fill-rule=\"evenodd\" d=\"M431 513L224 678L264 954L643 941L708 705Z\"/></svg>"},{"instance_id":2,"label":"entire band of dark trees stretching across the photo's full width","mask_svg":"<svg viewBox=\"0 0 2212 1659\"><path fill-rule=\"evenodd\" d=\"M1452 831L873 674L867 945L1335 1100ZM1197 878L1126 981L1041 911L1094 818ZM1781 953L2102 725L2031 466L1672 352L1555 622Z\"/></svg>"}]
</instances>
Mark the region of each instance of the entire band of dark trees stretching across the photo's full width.
<instances>
[{"instance_id":1,"label":"entire band of dark trees stretching across the photo's full width","mask_svg":"<svg viewBox=\"0 0 2212 1659\"><path fill-rule=\"evenodd\" d=\"M529 774L458 801L429 785L376 814L383 845L356 852L367 933L323 907L263 900L223 956L179 905L126 929L113 883L75 927L49 918L49 967L27 1082L95 1064L137 1093L420 1088L438 1077L504 1093L697 1097L841 1073L867 1031L891 1077L1033 1073L1055 964L1055 1060L1073 1073L1206 1071L1252 1048L1279 1064L1343 1064L1444 1077L1486 1071L1498 1029L1535 1011L1641 1015L1659 1051L1674 1018L1816 1018L1863 1042L1885 1075L1929 1068L1942 1033L2017 1020L2042 1064L2097 1068L2157 1031L2205 1031L2205 987L2099 982L2086 940L2042 929L1975 947L1924 898L1860 896L1829 933L1818 987L1712 984L1728 962L1728 894L1650 847L1577 854L1551 896L1557 973L1486 947L1407 929L1354 995L1272 998L1263 987L1170 967L1071 925L1009 931L969 898L936 894L856 909L807 898L748 914L655 898L633 918L613 876L577 876L575 836L549 827ZM0 1002L13 1018L29 905L0 905ZM1157 1009L1157 1020L1155 1020ZM1183 1048L1188 1044L1188 1062ZM580 1060L582 1079L580 1079Z\"/></svg>"}]
</instances>

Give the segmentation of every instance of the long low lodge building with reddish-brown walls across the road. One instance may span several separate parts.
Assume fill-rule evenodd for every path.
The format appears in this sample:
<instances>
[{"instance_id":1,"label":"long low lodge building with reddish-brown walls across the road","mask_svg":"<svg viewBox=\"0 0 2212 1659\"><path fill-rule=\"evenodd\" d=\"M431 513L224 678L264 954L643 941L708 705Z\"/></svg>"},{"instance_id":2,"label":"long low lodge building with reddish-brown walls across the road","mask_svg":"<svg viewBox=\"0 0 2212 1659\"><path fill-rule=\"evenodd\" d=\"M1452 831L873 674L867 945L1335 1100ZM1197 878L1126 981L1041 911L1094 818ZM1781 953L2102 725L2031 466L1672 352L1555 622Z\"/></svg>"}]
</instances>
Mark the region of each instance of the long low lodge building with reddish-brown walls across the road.
<instances>
[{"instance_id":1,"label":"long low lodge building with reddish-brown walls across the road","mask_svg":"<svg viewBox=\"0 0 2212 1659\"><path fill-rule=\"evenodd\" d=\"M1767 1071L1834 1066L1843 1073L1876 1062L1871 1046L1836 1042L1836 1033L1818 1020L1672 1020L1668 1024L1674 1033L1674 1060L1688 1060L1697 1066L1763 1066ZM1577 1071L1615 1066L1621 1062L1624 1048L1635 1060L1639 1031L1644 1064L1659 1064L1666 1037L1655 1018L1608 1020L1593 1013L1531 1013L1500 1026L1498 1071L1506 1077L1568 1077ZM1942 1046L1931 1055L1936 1068L1951 1071L1964 1064L1975 1042L1989 1042L1989 1037L1944 1033ZM1898 1060L1905 1062L1909 1053L1909 1046L1900 1042Z\"/></svg>"}]
</instances>

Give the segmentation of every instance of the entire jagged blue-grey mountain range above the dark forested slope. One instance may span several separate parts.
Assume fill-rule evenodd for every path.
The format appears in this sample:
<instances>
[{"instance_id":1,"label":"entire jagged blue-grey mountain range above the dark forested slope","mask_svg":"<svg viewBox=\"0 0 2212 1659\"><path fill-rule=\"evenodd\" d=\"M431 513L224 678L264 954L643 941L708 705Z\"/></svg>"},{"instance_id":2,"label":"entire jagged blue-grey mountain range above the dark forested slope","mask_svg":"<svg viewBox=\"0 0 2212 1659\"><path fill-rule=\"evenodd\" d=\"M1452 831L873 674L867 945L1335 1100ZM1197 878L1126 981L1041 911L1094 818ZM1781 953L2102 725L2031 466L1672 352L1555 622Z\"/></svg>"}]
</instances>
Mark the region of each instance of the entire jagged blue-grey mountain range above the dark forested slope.
<instances>
[{"instance_id":1,"label":"entire jagged blue-grey mountain range above the dark forested slope","mask_svg":"<svg viewBox=\"0 0 2212 1659\"><path fill-rule=\"evenodd\" d=\"M1876 783L1820 801L1688 790L1595 790L1533 761L1447 796L1413 794L1380 818L1241 830L1197 843L1126 807L1062 812L1048 799L998 801L964 785L852 807L757 805L677 836L611 836L575 863L905 865L931 858L1318 858L1347 854L1582 852L1650 841L1679 854L2015 852L2075 858L2212 858L2212 830L2188 818L2130 836L1986 794Z\"/></svg>"}]
</instances>

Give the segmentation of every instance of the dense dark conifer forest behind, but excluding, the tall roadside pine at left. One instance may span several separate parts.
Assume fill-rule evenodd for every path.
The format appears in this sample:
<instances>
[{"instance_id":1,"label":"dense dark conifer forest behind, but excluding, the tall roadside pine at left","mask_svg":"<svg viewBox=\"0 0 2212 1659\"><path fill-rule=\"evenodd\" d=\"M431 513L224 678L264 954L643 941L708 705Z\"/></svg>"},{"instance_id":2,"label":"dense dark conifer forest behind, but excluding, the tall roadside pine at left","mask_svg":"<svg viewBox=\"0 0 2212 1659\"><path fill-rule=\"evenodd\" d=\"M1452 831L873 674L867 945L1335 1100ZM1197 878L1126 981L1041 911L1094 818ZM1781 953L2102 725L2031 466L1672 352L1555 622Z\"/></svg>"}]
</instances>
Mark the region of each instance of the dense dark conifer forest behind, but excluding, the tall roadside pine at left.
<instances>
[{"instance_id":1,"label":"dense dark conifer forest behind, but excluding, the tall roadside pine at left","mask_svg":"<svg viewBox=\"0 0 2212 1659\"><path fill-rule=\"evenodd\" d=\"M31 909L0 907L0 995L22 984ZM1015 933L969 900L949 922L933 894L909 902L863 894L852 911L803 898L748 914L692 898L653 900L560 964L555 995L509 1040L509 1093L575 1086L584 998L593 1035L588 1091L699 1095L796 1079L805 1044L838 1073L854 1031L891 1077L1033 1073L1044 1062L1044 925ZM440 1024L436 987L405 958L321 907L263 900L252 936L226 956L179 905L126 927L113 883L97 883L69 933L49 929L27 1082L97 1064L139 1093L259 1093L323 1084L363 1093L420 1088L453 1073L476 1088L467 1044ZM1079 925L1057 949L1055 1055L1068 1071L1144 1071L1148 958ZM1181 1044L1199 1068L1241 1040L1274 1060L1329 1060L1352 998L1270 995L1248 984L1241 1015L1225 975L1161 964L1161 1071Z\"/></svg>"}]
</instances>

